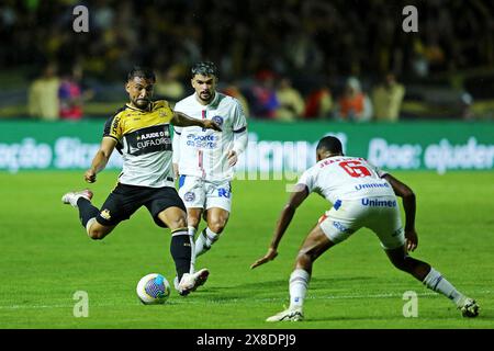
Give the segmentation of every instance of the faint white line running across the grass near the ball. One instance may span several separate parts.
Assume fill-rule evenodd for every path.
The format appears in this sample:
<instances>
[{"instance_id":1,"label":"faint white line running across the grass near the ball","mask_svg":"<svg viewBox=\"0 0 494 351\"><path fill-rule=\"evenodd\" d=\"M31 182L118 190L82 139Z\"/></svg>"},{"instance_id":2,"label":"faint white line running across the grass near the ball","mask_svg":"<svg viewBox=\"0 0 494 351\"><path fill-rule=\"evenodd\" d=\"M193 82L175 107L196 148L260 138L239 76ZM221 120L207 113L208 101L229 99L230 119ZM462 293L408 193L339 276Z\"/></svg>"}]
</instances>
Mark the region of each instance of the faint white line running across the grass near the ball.
<instances>
[{"instance_id":1,"label":"faint white line running across the grass near the ball","mask_svg":"<svg viewBox=\"0 0 494 351\"><path fill-rule=\"evenodd\" d=\"M490 295L492 294L492 291L474 291L471 292L472 296L478 296L478 295ZM417 294L417 296L439 296L438 293L420 293ZM305 299L351 299L351 298L389 298L389 297L403 297L403 293L386 293L386 294L361 294L361 295L335 295L335 296L314 296L314 295L310 295L307 294ZM287 296L288 298L288 296ZM251 303L266 303L266 302L283 302L287 299L285 297L266 297L266 298L227 298L227 299L222 299L222 298L212 298L206 301L206 303L209 304L218 304L218 305L229 305L229 304L236 304L238 302L243 302L243 301L248 301ZM170 305L182 305L182 304L187 304L187 305L192 305L192 304L204 304L204 299L201 301L197 301L197 299L183 299L183 301L170 301ZM91 305L93 307L112 307L115 306L115 304L94 304ZM74 304L67 304L67 305L10 305L10 306L0 306L0 310L9 310L9 309L43 309L43 308L72 308Z\"/></svg>"}]
</instances>

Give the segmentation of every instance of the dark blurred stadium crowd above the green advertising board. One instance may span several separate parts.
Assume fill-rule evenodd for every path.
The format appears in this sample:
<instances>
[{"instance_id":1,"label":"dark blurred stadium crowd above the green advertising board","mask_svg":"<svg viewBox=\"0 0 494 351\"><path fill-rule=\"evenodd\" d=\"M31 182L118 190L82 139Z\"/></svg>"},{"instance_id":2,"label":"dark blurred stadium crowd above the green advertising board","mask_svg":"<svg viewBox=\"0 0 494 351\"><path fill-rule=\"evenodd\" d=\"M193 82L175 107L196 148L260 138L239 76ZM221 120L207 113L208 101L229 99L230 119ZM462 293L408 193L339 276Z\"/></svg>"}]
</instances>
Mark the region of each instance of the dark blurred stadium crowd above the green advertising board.
<instances>
[{"instance_id":1,"label":"dark blurred stadium crowd above the green advertising board","mask_svg":"<svg viewBox=\"0 0 494 351\"><path fill-rule=\"evenodd\" d=\"M72 31L77 4L89 33ZM402 30L408 4L418 33ZM489 0L4 0L0 38L0 116L106 116L135 64L154 67L155 93L175 102L203 59L256 118L494 115Z\"/></svg>"}]
</instances>

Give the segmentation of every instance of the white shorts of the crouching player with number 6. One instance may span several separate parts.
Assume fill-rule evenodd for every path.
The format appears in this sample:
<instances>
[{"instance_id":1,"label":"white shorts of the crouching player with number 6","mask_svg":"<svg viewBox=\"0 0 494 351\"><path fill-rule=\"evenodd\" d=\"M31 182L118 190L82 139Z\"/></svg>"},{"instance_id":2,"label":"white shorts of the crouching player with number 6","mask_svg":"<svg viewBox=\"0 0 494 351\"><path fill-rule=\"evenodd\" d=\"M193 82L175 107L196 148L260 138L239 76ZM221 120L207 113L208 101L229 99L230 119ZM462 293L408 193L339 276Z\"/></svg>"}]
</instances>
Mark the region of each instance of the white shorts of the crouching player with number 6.
<instances>
[{"instance_id":1,"label":"white shorts of the crouching player with number 6","mask_svg":"<svg viewBox=\"0 0 494 351\"><path fill-rule=\"evenodd\" d=\"M361 227L374 231L383 249L396 249L405 244L400 205L394 196L337 201L319 218L319 226L335 244Z\"/></svg>"}]
</instances>

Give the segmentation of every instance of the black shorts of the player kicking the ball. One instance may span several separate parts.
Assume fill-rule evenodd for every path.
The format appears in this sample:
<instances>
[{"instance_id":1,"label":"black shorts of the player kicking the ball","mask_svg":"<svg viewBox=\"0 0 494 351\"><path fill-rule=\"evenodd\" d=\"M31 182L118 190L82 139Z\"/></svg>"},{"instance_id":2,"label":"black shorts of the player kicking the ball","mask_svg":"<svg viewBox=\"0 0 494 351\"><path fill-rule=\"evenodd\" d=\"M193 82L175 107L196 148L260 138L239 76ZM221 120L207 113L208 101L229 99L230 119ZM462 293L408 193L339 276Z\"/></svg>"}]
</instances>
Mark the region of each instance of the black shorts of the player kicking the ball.
<instances>
[{"instance_id":1,"label":"black shorts of the player kicking the ball","mask_svg":"<svg viewBox=\"0 0 494 351\"><path fill-rule=\"evenodd\" d=\"M119 183L101 206L97 220L103 226L115 226L131 218L141 207L146 206L155 223L166 228L158 214L168 207L180 207L187 213L186 205L171 186L148 188Z\"/></svg>"}]
</instances>

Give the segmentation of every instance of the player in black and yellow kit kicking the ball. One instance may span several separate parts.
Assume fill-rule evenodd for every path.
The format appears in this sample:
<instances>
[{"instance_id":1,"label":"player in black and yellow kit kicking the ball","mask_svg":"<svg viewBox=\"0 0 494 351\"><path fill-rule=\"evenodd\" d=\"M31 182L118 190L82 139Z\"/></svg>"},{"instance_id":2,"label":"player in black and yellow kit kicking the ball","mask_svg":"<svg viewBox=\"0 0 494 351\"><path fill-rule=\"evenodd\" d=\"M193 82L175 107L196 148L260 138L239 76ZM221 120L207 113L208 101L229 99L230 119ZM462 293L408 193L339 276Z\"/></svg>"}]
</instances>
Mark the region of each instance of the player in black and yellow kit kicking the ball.
<instances>
[{"instance_id":1,"label":"player in black and yellow kit kicking the ball","mask_svg":"<svg viewBox=\"0 0 494 351\"><path fill-rule=\"evenodd\" d=\"M209 271L191 271L193 238L187 229L187 210L173 182L170 124L201 126L221 132L209 120L191 118L175 112L167 101L151 101L156 82L151 70L135 67L127 76L125 90L130 102L108 120L100 149L85 180L93 183L116 148L123 169L116 188L101 210L91 204L89 189L66 193L61 201L79 208L79 217L91 239L102 239L122 220L146 206L155 223L171 230L170 252L179 278L179 293L187 295L204 284Z\"/></svg>"}]
</instances>

